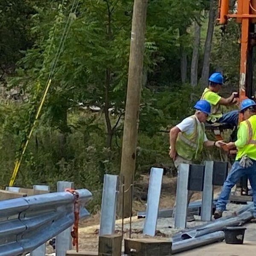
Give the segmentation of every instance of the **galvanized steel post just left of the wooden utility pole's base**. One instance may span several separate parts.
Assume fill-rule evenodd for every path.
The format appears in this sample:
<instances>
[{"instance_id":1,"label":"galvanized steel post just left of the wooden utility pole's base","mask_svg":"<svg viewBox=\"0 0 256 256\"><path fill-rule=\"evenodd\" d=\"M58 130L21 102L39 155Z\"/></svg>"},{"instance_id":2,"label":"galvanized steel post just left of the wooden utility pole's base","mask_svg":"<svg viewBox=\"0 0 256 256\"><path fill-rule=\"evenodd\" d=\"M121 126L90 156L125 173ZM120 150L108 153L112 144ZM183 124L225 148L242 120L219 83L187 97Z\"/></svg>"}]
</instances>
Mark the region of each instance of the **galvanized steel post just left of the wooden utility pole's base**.
<instances>
[{"instance_id":1,"label":"galvanized steel post just left of the wooden utility pole's base","mask_svg":"<svg viewBox=\"0 0 256 256\"><path fill-rule=\"evenodd\" d=\"M115 232L118 183L118 175L104 175L99 226L100 236L112 235Z\"/></svg>"}]
</instances>

